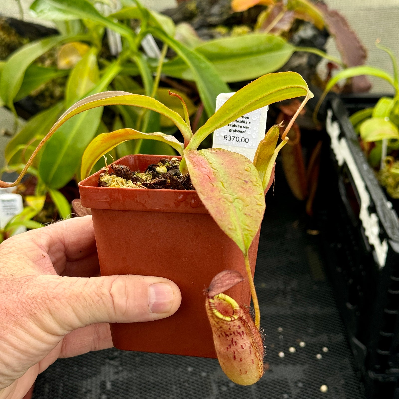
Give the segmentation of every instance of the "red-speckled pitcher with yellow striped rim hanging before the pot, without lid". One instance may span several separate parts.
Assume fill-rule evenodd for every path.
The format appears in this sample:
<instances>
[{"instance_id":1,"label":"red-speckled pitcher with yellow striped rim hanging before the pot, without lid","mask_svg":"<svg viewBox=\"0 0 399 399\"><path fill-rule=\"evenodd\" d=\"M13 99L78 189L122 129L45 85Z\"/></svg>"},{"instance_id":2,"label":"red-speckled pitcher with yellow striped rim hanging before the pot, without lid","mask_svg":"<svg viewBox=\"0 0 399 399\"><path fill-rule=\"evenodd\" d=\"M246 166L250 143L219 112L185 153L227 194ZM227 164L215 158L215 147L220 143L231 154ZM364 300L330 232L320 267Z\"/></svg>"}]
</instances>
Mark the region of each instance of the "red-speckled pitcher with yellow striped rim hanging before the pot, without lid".
<instances>
[{"instance_id":1,"label":"red-speckled pitcher with yellow striped rim hanging before the pot, without lid","mask_svg":"<svg viewBox=\"0 0 399 399\"><path fill-rule=\"evenodd\" d=\"M225 294L206 299L219 364L231 381L252 385L263 375L263 341L247 308Z\"/></svg>"}]
</instances>

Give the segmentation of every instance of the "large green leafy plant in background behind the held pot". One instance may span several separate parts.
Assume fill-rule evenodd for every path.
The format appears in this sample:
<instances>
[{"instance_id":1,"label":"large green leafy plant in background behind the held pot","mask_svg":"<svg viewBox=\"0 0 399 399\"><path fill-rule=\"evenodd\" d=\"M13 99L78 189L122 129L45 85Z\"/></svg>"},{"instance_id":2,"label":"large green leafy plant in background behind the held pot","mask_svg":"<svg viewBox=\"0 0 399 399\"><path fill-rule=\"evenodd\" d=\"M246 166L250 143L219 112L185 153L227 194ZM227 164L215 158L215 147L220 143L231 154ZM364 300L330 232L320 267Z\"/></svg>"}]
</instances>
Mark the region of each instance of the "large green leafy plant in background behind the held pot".
<instances>
[{"instance_id":1,"label":"large green leafy plant in background behind the held pot","mask_svg":"<svg viewBox=\"0 0 399 399\"><path fill-rule=\"evenodd\" d=\"M189 40L190 30L179 30L179 27L176 30L169 17L150 11L136 1L124 0L122 5L121 10L105 16L87 0L36 0L32 4L32 12L54 21L60 34L29 43L1 63L2 103L15 111L16 101L61 77L66 79L65 95L63 101L32 117L11 140L5 154L7 170L21 170L55 120L72 103L87 95L108 89L146 94L183 115L179 100L167 94L168 88L173 89L184 98L196 130L214 113L216 96L231 91L227 83L275 71L298 49L324 55L316 49L297 48L283 38L265 33L206 42L192 35ZM112 56L105 45L107 30L121 37L122 51L117 56ZM140 44L148 34L162 42L159 58L151 58L142 51ZM35 61L54 49L57 49L56 65L48 67ZM190 81L195 85L190 85ZM59 190L72 179L80 180L79 162L90 140L118 128L142 132L162 130L180 136L166 117L136 107L113 105L77 116L57 131L32 165L38 180L35 194L48 194L47 199L52 199L60 216L68 217L69 202ZM210 142L203 146L210 146ZM119 158L138 152L175 153L163 142L142 139L128 140L111 154ZM100 159L94 170L102 166Z\"/></svg>"}]
</instances>

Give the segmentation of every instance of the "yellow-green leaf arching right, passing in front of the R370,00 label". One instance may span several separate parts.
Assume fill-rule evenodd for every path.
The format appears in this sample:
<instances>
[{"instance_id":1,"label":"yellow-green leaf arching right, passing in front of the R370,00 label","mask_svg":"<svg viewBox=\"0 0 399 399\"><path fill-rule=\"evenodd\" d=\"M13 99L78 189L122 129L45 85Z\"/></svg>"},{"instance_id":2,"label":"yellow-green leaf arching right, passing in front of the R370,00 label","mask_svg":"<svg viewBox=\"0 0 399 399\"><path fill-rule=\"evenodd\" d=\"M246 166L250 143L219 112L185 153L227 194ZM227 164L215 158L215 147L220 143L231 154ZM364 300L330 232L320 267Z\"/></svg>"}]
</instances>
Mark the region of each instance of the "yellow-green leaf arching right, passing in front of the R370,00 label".
<instances>
[{"instance_id":1,"label":"yellow-green leaf arching right, passing in front of the R370,00 label","mask_svg":"<svg viewBox=\"0 0 399 399\"><path fill-rule=\"evenodd\" d=\"M195 150L216 129L256 109L293 97L313 97L306 81L296 72L276 72L261 76L233 94L207 122L197 130L187 148Z\"/></svg>"}]
</instances>

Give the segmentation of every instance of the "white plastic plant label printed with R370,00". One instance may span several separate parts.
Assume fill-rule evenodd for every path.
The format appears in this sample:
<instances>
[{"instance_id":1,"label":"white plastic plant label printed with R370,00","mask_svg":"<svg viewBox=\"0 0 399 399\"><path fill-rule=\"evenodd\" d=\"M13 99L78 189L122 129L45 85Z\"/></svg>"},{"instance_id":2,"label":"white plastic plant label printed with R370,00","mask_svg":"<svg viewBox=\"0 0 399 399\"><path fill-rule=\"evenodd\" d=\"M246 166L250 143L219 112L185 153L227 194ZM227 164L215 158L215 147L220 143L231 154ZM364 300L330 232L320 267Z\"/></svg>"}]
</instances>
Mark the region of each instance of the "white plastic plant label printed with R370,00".
<instances>
[{"instance_id":1,"label":"white plastic plant label printed with R370,00","mask_svg":"<svg viewBox=\"0 0 399 399\"><path fill-rule=\"evenodd\" d=\"M220 93L216 98L216 111L234 93ZM255 157L259 142L265 137L268 106L257 109L213 133L213 148L238 152L251 161Z\"/></svg>"}]
</instances>

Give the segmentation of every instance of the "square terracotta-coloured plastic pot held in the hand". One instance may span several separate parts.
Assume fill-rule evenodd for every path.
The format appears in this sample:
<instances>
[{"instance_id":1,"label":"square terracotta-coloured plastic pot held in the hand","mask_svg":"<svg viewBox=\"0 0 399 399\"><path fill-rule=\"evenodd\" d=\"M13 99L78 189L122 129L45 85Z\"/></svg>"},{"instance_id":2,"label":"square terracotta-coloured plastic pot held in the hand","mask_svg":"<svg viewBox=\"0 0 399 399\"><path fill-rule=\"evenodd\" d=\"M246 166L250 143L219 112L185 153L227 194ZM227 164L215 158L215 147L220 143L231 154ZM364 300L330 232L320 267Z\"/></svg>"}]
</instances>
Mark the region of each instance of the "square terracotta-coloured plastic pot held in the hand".
<instances>
[{"instance_id":1,"label":"square terracotta-coloured plastic pot held in the hand","mask_svg":"<svg viewBox=\"0 0 399 399\"><path fill-rule=\"evenodd\" d=\"M128 155L116 163L144 171L160 155ZM215 358L203 294L226 269L246 275L237 245L209 215L193 190L98 187L101 172L79 183L81 203L91 208L101 274L166 277L179 286L182 304L163 320L111 324L116 348ZM249 251L255 269L259 232ZM226 293L250 304L249 283Z\"/></svg>"}]
</instances>

